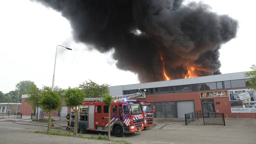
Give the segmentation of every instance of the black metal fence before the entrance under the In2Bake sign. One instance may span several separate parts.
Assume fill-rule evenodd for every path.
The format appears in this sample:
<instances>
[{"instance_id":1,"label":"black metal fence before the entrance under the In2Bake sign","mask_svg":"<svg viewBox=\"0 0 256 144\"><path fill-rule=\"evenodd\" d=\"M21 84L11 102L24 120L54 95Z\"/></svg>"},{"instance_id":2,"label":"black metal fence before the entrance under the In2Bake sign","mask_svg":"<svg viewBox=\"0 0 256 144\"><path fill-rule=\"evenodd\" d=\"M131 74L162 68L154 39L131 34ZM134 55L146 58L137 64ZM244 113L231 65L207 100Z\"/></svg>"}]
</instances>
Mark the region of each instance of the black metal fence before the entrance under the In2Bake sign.
<instances>
[{"instance_id":1,"label":"black metal fence before the entrance under the In2Bake sign","mask_svg":"<svg viewBox=\"0 0 256 144\"><path fill-rule=\"evenodd\" d=\"M186 125L202 119L204 125L226 125L224 113L201 113L200 110L185 114Z\"/></svg>"}]
</instances>

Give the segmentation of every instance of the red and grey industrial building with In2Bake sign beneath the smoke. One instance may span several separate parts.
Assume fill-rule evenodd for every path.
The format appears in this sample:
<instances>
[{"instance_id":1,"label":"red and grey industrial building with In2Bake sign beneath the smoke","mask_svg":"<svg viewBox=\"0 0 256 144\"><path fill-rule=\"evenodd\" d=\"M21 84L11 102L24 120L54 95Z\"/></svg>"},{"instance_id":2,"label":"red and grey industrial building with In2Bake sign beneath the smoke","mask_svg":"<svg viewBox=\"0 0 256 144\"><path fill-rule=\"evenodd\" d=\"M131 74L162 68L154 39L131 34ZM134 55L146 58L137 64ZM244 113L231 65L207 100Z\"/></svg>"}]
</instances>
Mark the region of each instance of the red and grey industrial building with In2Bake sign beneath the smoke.
<instances>
[{"instance_id":1,"label":"red and grey industrial building with In2Bake sign beneath the smoke","mask_svg":"<svg viewBox=\"0 0 256 144\"><path fill-rule=\"evenodd\" d=\"M250 77L244 74L238 72L110 86L109 91L112 96L136 93L138 89L145 91L145 98L136 99L155 105L155 118L184 118L184 114L195 111L224 113L228 118L255 118L255 90L248 89Z\"/></svg>"}]
</instances>

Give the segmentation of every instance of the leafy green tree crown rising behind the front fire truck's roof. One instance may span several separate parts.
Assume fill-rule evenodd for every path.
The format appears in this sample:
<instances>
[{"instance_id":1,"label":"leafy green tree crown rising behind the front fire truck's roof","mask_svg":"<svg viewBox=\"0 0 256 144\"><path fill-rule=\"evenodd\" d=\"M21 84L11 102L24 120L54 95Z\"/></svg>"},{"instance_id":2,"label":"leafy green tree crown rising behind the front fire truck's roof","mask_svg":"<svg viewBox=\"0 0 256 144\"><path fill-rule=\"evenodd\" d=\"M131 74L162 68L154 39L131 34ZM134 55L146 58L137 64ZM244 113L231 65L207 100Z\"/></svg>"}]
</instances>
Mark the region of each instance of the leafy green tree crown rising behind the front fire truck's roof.
<instances>
[{"instance_id":1,"label":"leafy green tree crown rising behind the front fire truck's roof","mask_svg":"<svg viewBox=\"0 0 256 144\"><path fill-rule=\"evenodd\" d=\"M93 98L93 97L102 97L103 94L109 93L108 92L108 84L99 85L91 80L85 81L79 85L84 93L85 97Z\"/></svg>"}]
</instances>

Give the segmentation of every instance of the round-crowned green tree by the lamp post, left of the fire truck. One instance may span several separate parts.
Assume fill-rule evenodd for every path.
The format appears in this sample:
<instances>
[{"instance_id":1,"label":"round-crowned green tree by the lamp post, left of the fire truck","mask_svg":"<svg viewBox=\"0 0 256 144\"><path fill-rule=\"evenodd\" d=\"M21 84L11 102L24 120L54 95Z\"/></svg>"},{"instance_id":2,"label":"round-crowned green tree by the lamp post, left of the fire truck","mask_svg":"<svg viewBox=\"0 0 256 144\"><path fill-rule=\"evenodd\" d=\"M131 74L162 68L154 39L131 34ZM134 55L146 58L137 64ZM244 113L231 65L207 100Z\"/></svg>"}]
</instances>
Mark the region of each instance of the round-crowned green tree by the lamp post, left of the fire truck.
<instances>
[{"instance_id":1,"label":"round-crowned green tree by the lamp post, left of the fire truck","mask_svg":"<svg viewBox=\"0 0 256 144\"><path fill-rule=\"evenodd\" d=\"M45 112L49 113L47 132L51 131L52 111L60 109L61 103L62 100L56 91L52 91L49 87L44 88L39 105Z\"/></svg>"}]
</instances>

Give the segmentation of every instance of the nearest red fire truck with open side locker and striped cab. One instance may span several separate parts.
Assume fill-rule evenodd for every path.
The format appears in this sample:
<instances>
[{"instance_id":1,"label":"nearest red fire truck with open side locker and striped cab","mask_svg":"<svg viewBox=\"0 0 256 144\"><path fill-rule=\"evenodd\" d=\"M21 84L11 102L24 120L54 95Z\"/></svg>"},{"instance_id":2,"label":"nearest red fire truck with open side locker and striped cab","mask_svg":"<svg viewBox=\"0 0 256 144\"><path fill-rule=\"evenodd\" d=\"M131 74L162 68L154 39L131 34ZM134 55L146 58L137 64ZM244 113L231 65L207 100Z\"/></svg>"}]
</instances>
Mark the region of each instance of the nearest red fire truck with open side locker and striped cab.
<instances>
[{"instance_id":1,"label":"nearest red fire truck with open side locker and striped cab","mask_svg":"<svg viewBox=\"0 0 256 144\"><path fill-rule=\"evenodd\" d=\"M139 102L127 100L111 104L111 131L117 137L124 133L140 132L144 129L143 115ZM84 101L78 107L78 130L108 131L108 106L103 102ZM74 111L70 113L70 128L74 127Z\"/></svg>"}]
</instances>

